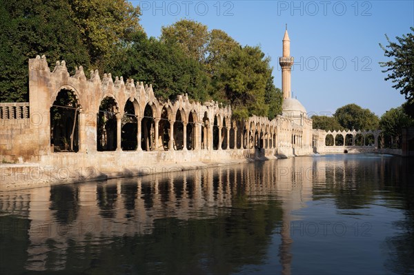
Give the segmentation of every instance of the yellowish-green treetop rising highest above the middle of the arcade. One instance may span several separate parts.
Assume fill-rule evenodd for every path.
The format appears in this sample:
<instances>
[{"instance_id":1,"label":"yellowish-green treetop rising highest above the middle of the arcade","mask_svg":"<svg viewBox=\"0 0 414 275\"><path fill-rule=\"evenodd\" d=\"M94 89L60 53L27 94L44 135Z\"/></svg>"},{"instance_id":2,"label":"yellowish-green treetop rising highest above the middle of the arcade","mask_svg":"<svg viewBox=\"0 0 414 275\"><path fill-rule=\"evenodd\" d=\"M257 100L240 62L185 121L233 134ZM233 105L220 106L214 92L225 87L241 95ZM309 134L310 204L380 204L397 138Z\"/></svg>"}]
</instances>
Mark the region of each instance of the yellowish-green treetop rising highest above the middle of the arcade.
<instances>
[{"instance_id":1,"label":"yellowish-green treetop rising highest above the middle of the arcade","mask_svg":"<svg viewBox=\"0 0 414 275\"><path fill-rule=\"evenodd\" d=\"M204 63L209 39L207 26L193 20L181 19L161 28L161 41L178 44L186 54Z\"/></svg>"}]
</instances>

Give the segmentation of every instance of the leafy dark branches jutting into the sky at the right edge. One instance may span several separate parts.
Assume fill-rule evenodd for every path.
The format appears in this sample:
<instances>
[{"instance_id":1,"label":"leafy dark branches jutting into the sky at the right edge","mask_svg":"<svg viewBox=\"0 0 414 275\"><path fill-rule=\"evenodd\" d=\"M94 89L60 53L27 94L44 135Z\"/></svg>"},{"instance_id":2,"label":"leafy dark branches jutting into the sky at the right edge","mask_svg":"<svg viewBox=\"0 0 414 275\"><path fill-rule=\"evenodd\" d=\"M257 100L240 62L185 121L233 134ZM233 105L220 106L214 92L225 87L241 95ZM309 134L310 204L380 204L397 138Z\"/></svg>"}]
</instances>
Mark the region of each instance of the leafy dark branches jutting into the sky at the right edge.
<instances>
[{"instance_id":1,"label":"leafy dark branches jutting into the sky at the right edge","mask_svg":"<svg viewBox=\"0 0 414 275\"><path fill-rule=\"evenodd\" d=\"M410 27L411 32L403 34L402 37L395 37L397 42L392 42L385 35L388 45L385 47L380 43L386 57L393 60L380 62L382 72L387 73L386 81L391 80L393 88L400 90L407 100L404 109L414 117L414 28Z\"/></svg>"}]
</instances>

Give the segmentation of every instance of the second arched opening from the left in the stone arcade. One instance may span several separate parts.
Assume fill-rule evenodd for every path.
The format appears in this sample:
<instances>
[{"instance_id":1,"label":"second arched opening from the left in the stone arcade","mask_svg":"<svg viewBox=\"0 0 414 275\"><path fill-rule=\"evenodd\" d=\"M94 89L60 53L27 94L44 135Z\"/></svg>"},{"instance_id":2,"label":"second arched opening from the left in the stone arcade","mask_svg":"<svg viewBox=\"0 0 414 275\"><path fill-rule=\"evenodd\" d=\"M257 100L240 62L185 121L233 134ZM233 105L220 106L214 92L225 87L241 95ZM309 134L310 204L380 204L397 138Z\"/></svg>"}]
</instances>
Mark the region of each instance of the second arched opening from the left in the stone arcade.
<instances>
[{"instance_id":1,"label":"second arched opening from the left in the stone arcade","mask_svg":"<svg viewBox=\"0 0 414 275\"><path fill-rule=\"evenodd\" d=\"M117 102L113 97L106 96L99 105L97 122L97 150L117 150Z\"/></svg>"}]
</instances>

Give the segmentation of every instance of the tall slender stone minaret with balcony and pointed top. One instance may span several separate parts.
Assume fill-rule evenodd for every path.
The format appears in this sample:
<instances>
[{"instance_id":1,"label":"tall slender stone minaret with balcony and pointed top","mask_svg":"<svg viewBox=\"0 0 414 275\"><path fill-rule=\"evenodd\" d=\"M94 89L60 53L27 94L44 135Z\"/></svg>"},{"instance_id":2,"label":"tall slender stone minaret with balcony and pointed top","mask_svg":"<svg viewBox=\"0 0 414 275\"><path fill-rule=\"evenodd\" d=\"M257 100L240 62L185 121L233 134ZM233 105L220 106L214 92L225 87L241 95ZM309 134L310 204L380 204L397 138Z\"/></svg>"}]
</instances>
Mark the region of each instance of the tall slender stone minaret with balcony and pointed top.
<instances>
[{"instance_id":1,"label":"tall slender stone minaret with balcony and pointed top","mask_svg":"<svg viewBox=\"0 0 414 275\"><path fill-rule=\"evenodd\" d=\"M290 68L293 65L293 57L290 57L290 39L288 24L283 37L283 57L279 57L279 65L282 67L282 92L284 99L290 99Z\"/></svg>"}]
</instances>

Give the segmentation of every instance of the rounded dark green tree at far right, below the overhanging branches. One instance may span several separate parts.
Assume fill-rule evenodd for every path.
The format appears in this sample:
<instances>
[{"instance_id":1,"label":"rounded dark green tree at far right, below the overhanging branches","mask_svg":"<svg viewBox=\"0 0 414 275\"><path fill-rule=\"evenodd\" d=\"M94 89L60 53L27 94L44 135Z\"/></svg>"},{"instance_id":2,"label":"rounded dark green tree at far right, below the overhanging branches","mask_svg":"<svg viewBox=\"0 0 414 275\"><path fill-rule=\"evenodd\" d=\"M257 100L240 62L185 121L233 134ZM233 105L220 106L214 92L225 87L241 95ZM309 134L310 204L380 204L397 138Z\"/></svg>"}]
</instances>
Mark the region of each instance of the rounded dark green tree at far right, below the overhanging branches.
<instances>
[{"instance_id":1,"label":"rounded dark green tree at far right, below the overhanging branches","mask_svg":"<svg viewBox=\"0 0 414 275\"><path fill-rule=\"evenodd\" d=\"M410 118L404 109L400 106L398 108L391 108L386 111L380 120L380 127L384 131L384 135L391 139L391 147L399 147L402 128L414 125L413 119Z\"/></svg>"}]
</instances>

